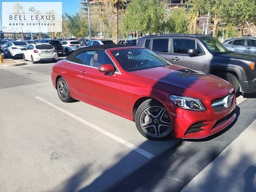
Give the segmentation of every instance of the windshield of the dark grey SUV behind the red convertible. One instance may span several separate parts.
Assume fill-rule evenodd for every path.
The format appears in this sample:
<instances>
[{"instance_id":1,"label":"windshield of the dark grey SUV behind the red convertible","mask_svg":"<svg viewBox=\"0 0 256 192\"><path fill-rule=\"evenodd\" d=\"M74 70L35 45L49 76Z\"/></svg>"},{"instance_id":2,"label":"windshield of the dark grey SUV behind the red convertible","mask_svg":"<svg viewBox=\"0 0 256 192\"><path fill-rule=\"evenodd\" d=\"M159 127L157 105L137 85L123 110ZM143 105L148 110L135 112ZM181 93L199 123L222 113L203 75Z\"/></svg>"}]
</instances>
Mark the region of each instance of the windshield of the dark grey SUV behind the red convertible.
<instances>
[{"instance_id":1,"label":"windshield of the dark grey SUV behind the red convertible","mask_svg":"<svg viewBox=\"0 0 256 192\"><path fill-rule=\"evenodd\" d=\"M227 54L230 53L230 51L224 47L218 40L216 40L213 37L201 37L201 40L204 42L208 50L212 53L217 54Z\"/></svg>"}]
</instances>

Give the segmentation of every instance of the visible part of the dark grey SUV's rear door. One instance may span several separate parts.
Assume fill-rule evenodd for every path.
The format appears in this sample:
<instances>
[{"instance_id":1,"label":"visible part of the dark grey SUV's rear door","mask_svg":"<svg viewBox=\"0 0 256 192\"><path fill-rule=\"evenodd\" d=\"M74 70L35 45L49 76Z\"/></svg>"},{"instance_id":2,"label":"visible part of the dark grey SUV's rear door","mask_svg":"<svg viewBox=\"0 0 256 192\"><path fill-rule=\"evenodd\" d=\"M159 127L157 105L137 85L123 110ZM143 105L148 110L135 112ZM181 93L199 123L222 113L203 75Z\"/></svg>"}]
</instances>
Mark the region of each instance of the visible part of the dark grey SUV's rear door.
<instances>
[{"instance_id":1,"label":"visible part of the dark grey SUV's rear door","mask_svg":"<svg viewBox=\"0 0 256 192\"><path fill-rule=\"evenodd\" d=\"M152 40L152 51L170 61L170 39L156 38Z\"/></svg>"}]
</instances>

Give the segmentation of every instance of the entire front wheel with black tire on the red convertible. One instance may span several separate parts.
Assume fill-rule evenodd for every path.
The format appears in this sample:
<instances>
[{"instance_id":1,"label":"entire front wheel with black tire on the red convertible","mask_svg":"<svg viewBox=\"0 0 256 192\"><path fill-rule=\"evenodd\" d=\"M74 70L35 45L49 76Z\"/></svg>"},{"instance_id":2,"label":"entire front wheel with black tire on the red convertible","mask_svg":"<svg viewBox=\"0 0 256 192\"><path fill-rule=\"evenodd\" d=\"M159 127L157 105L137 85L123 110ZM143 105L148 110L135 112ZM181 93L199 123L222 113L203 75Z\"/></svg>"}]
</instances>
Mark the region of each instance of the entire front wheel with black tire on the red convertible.
<instances>
[{"instance_id":1,"label":"entire front wheel with black tire on the red convertible","mask_svg":"<svg viewBox=\"0 0 256 192\"><path fill-rule=\"evenodd\" d=\"M135 124L140 134L150 140L166 140L172 136L170 115L166 108L154 99L140 104L135 114Z\"/></svg>"}]
</instances>

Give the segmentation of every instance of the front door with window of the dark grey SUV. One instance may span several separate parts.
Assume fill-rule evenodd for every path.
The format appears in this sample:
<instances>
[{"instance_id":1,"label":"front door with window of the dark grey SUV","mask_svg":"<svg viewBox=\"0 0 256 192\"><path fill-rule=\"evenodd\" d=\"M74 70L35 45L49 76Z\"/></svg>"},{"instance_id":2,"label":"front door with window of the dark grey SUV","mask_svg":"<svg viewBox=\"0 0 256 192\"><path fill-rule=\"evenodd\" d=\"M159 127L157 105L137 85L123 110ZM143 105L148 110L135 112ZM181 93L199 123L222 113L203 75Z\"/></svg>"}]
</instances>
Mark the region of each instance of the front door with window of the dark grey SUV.
<instances>
[{"instance_id":1,"label":"front door with window of the dark grey SUV","mask_svg":"<svg viewBox=\"0 0 256 192\"><path fill-rule=\"evenodd\" d=\"M195 39L173 38L171 44L170 60L172 64L204 71L205 53ZM189 49L197 49L197 56L190 56Z\"/></svg>"}]
</instances>

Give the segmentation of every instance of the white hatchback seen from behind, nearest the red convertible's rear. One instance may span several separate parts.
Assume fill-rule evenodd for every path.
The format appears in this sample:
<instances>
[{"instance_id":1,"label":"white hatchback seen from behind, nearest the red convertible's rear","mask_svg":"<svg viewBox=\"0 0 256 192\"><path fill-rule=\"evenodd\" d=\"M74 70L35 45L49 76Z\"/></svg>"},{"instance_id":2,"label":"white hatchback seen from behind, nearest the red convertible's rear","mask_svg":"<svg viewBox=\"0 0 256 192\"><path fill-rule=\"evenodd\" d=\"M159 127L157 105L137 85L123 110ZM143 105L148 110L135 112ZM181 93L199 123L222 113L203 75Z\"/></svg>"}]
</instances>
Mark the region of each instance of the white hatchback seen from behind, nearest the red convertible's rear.
<instances>
[{"instance_id":1,"label":"white hatchback seen from behind, nearest the red convertible's rear","mask_svg":"<svg viewBox=\"0 0 256 192\"><path fill-rule=\"evenodd\" d=\"M52 60L53 62L57 62L58 55L56 49L54 49L51 44L29 44L23 51L23 60L32 61L33 64L42 60Z\"/></svg>"}]
</instances>

